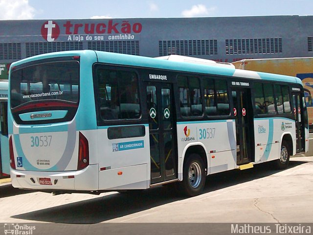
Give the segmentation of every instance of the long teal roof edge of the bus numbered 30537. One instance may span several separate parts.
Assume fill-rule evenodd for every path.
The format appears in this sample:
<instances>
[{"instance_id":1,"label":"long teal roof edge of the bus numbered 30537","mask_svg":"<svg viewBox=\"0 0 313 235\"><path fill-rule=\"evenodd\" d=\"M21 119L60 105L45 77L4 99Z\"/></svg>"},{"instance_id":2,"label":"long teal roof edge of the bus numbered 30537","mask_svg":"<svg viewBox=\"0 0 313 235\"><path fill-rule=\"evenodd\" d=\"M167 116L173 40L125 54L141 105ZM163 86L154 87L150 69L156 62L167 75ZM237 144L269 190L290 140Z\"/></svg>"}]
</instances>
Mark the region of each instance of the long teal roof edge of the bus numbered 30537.
<instances>
[{"instance_id":1,"label":"long teal roof edge of the bus numbered 30537","mask_svg":"<svg viewBox=\"0 0 313 235\"><path fill-rule=\"evenodd\" d=\"M272 74L265 72L256 72L256 71L247 71L247 70L238 70L232 67L225 67L220 65L214 65L209 63L189 63L188 61L173 61L167 60L164 58L151 58L144 56L135 56L127 54L119 54L112 52L104 51L93 51L93 50L77 50L77 51L62 51L62 52L53 52L42 55L37 55L29 57L17 62L12 63L11 68L14 66L21 65L34 60L41 60L53 57L62 57L62 56L92 56L100 63L108 64L117 64L117 65L127 65L127 66L136 66L136 67L145 67L145 68L154 68L154 69L164 69L172 71L185 71L185 72L197 72L203 74L216 74L222 76L234 76L234 77L244 77L250 79L263 79L271 81L283 81L291 82L302 85L302 82L297 77ZM91 57L90 57L91 58Z\"/></svg>"}]
</instances>

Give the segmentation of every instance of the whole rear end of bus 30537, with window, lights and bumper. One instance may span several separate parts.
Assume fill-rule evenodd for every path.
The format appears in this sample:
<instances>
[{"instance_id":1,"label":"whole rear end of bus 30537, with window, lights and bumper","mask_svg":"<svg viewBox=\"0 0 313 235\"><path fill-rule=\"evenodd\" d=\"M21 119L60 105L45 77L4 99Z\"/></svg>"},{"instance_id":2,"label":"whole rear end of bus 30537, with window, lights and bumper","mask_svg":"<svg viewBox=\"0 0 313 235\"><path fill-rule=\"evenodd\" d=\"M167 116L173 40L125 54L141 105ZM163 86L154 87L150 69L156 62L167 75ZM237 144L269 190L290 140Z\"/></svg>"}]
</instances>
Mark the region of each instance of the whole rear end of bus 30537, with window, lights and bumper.
<instances>
[{"instance_id":1,"label":"whole rear end of bus 30537, with window, lights and bumper","mask_svg":"<svg viewBox=\"0 0 313 235\"><path fill-rule=\"evenodd\" d=\"M80 55L65 53L11 67L9 150L14 187L98 189L98 165L90 157L95 156L97 142L91 134L96 129L94 111L90 112L93 92L84 89L92 86L81 85L92 84L86 75L92 62L81 64Z\"/></svg>"}]
</instances>

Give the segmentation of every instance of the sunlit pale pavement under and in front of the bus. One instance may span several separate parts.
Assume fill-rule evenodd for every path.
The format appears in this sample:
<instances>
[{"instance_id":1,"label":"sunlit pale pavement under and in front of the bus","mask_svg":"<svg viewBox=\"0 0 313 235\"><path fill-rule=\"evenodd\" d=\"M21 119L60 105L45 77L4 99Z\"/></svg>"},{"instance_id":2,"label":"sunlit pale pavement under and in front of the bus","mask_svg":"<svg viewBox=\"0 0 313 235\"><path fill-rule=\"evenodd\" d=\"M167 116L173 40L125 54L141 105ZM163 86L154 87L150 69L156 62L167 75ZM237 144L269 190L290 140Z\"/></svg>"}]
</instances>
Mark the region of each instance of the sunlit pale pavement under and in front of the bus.
<instances>
[{"instance_id":1,"label":"sunlit pale pavement under and in front of the bus","mask_svg":"<svg viewBox=\"0 0 313 235\"><path fill-rule=\"evenodd\" d=\"M172 187L136 193L61 194L0 185L0 222L313 223L313 157L293 157L286 170L270 164L210 175L201 195Z\"/></svg>"}]
</instances>

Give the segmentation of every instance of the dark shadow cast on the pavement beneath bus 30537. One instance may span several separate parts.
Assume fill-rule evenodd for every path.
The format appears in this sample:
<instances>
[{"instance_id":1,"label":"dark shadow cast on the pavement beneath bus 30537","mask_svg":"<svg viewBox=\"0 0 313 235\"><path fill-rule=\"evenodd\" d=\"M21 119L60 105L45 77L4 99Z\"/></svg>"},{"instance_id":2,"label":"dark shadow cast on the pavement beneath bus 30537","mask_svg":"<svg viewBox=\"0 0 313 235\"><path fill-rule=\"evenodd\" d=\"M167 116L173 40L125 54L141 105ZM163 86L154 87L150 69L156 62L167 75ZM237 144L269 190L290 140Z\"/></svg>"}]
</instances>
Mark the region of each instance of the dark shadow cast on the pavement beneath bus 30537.
<instances>
[{"instance_id":1,"label":"dark shadow cast on the pavement beneath bus 30537","mask_svg":"<svg viewBox=\"0 0 313 235\"><path fill-rule=\"evenodd\" d=\"M289 168L304 163L306 162L291 161ZM269 164L259 164L244 171L232 170L214 174L207 177L203 193L260 179L277 172L279 171ZM172 188L160 186L137 193L104 194L103 197L18 214L12 218L52 223L94 224L186 198L179 196Z\"/></svg>"}]
</instances>

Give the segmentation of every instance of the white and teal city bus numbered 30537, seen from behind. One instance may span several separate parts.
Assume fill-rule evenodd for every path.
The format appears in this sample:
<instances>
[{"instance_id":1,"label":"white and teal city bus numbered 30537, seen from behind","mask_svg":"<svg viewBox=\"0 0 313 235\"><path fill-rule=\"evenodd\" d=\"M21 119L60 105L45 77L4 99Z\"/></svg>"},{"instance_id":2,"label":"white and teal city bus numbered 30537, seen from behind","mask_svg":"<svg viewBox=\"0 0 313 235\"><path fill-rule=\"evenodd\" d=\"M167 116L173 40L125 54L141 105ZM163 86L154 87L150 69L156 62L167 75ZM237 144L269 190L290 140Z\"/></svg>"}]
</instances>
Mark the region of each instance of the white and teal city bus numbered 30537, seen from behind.
<instances>
[{"instance_id":1,"label":"white and teal city bus numbered 30537, seen from behind","mask_svg":"<svg viewBox=\"0 0 313 235\"><path fill-rule=\"evenodd\" d=\"M102 51L13 63L8 131L15 188L122 191L175 183L308 151L299 78L202 59Z\"/></svg>"}]
</instances>

